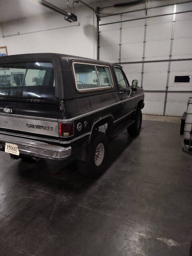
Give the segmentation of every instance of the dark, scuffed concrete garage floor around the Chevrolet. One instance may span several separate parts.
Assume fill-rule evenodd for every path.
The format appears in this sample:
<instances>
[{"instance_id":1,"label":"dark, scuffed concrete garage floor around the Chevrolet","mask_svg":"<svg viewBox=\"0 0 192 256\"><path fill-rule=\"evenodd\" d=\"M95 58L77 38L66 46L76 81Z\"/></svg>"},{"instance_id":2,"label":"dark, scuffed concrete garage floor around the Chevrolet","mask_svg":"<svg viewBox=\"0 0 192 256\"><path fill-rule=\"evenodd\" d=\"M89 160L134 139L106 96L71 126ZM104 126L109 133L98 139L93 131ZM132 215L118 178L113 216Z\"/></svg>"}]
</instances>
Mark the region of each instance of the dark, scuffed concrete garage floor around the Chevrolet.
<instances>
[{"instance_id":1,"label":"dark, scuffed concrete garage floor around the Chevrolet","mask_svg":"<svg viewBox=\"0 0 192 256\"><path fill-rule=\"evenodd\" d=\"M0 153L1 256L191 256L192 154L180 125L144 120L98 180Z\"/></svg>"}]
</instances>

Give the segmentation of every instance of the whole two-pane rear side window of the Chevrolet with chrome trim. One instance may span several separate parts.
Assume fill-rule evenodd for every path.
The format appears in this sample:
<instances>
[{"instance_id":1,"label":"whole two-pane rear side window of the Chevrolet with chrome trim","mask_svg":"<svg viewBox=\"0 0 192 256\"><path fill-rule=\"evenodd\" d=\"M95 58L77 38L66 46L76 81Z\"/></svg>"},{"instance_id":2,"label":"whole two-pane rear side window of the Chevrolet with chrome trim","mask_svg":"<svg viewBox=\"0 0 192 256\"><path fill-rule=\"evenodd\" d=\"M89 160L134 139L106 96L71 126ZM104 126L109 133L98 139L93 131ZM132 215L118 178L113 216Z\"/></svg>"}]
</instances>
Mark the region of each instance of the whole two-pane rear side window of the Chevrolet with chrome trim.
<instances>
[{"instance_id":1,"label":"whole two-pane rear side window of the Chevrolet with chrome trim","mask_svg":"<svg viewBox=\"0 0 192 256\"><path fill-rule=\"evenodd\" d=\"M113 86L108 67L76 62L73 65L78 90L99 90Z\"/></svg>"}]
</instances>

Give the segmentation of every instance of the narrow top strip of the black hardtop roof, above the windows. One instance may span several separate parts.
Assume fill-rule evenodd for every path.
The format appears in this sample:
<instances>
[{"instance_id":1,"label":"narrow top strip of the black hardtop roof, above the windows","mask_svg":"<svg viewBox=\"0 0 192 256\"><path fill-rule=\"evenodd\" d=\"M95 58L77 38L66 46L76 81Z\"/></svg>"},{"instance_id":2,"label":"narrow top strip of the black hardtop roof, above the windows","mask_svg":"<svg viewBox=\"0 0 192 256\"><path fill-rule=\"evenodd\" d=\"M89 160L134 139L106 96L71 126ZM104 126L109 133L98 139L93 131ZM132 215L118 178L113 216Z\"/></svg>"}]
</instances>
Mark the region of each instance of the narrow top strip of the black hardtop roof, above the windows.
<instances>
[{"instance_id":1,"label":"narrow top strip of the black hardtop roof, above the windows","mask_svg":"<svg viewBox=\"0 0 192 256\"><path fill-rule=\"evenodd\" d=\"M19 62L51 62L54 68L64 68L64 62L70 62L71 60L79 60L85 62L107 64L108 62L103 62L101 60L94 60L89 58L83 58L79 56L72 56L59 53L30 53L30 54L16 54L0 57L0 64L7 63L19 63Z\"/></svg>"}]
</instances>

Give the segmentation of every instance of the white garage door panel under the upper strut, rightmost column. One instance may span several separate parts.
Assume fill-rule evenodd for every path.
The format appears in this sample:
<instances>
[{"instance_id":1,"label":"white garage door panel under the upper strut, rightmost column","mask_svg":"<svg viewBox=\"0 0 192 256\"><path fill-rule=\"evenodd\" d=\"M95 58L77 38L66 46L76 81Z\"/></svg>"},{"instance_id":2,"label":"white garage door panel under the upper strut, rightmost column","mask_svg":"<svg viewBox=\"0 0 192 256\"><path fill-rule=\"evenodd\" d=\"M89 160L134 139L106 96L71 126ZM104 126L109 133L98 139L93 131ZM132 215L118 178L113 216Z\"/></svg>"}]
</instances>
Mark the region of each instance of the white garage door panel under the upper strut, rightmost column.
<instances>
[{"instance_id":1,"label":"white garage door panel under the upper strut, rightmost column","mask_svg":"<svg viewBox=\"0 0 192 256\"><path fill-rule=\"evenodd\" d=\"M192 37L192 20L175 22L174 39Z\"/></svg>"}]
</instances>

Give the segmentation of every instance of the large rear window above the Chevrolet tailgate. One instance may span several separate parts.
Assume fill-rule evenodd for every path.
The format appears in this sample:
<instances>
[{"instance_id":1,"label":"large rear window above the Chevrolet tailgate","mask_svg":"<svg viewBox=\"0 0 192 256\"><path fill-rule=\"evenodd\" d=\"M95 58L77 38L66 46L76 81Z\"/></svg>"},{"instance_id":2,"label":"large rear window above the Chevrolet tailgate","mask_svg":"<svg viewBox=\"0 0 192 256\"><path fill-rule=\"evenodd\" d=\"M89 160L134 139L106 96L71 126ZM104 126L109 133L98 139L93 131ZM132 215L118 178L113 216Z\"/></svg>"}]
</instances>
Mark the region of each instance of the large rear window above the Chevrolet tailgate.
<instances>
[{"instance_id":1,"label":"large rear window above the Chevrolet tailgate","mask_svg":"<svg viewBox=\"0 0 192 256\"><path fill-rule=\"evenodd\" d=\"M0 64L0 97L55 98L49 62Z\"/></svg>"}]
</instances>

